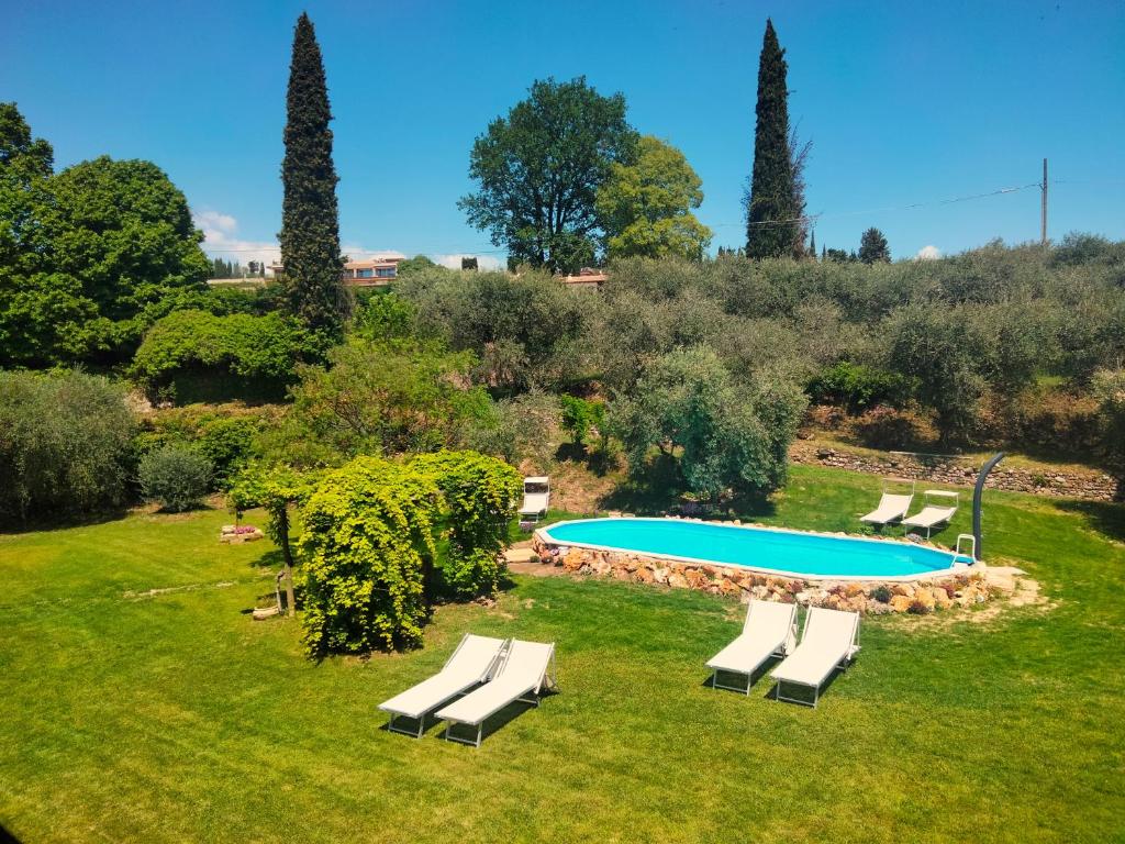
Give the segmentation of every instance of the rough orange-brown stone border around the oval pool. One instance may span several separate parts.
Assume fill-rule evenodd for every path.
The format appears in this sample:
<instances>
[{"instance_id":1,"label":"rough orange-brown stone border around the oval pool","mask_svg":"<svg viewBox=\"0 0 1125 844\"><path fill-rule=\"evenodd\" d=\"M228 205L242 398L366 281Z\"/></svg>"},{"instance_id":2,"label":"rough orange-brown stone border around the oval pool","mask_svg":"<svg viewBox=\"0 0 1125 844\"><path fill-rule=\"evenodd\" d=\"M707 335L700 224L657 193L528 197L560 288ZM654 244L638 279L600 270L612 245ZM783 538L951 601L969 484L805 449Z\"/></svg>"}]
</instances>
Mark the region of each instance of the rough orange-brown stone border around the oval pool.
<instances>
[{"instance_id":1,"label":"rough orange-brown stone border around the oval pool","mask_svg":"<svg viewBox=\"0 0 1125 844\"><path fill-rule=\"evenodd\" d=\"M765 524L742 524L741 522L704 522L702 519L684 519L683 521L777 530L788 533L806 532L837 539L897 541L847 533L793 531ZM555 524L565 523L556 522ZM994 584L989 582L984 574L987 567L982 564L973 566L958 564L953 568L908 578L810 577L728 563L637 554L601 546L564 544L546 532L550 527L555 526L537 530L531 544L532 551L544 565L561 566L564 571L573 574L663 585L670 589L694 589L730 598L737 596L744 603L750 599L758 599L800 603L808 607L827 607L835 610L852 610L866 614L890 612L926 614L934 610L981 604L1000 592Z\"/></svg>"}]
</instances>

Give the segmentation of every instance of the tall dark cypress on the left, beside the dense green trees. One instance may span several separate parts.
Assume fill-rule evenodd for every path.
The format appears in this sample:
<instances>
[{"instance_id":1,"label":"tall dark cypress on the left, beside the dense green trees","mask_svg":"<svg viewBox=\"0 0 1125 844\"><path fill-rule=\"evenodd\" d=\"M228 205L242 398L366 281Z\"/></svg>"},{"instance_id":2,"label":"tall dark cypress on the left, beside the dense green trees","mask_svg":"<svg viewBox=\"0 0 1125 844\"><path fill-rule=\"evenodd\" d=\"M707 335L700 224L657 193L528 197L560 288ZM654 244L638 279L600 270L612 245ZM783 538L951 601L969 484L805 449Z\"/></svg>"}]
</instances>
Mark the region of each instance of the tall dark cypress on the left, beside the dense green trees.
<instances>
[{"instance_id":1,"label":"tall dark cypress on the left, beside the dense green trees","mask_svg":"<svg viewBox=\"0 0 1125 844\"><path fill-rule=\"evenodd\" d=\"M285 160L281 162L281 263L289 311L308 327L339 336L346 311L340 277L336 168L324 62L308 15L292 37Z\"/></svg>"}]
</instances>

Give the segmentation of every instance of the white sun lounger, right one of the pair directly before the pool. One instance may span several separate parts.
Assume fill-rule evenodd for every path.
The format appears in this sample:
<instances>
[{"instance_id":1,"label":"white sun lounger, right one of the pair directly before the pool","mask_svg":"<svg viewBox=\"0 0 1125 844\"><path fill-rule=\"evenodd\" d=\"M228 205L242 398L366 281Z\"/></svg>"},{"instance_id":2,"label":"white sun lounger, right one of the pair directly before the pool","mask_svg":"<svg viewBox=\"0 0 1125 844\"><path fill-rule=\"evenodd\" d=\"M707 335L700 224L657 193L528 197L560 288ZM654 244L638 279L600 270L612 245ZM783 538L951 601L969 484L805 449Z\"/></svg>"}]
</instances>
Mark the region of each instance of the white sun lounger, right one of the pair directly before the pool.
<instances>
[{"instance_id":1,"label":"white sun lounger, right one of the pair directly before the pool","mask_svg":"<svg viewBox=\"0 0 1125 844\"><path fill-rule=\"evenodd\" d=\"M804 617L801 644L785 661L773 670L777 700L804 703L800 698L782 695L782 684L803 685L812 689L812 706L820 699L820 686L837 667L847 667L860 650L860 613L810 607Z\"/></svg>"}]
</instances>

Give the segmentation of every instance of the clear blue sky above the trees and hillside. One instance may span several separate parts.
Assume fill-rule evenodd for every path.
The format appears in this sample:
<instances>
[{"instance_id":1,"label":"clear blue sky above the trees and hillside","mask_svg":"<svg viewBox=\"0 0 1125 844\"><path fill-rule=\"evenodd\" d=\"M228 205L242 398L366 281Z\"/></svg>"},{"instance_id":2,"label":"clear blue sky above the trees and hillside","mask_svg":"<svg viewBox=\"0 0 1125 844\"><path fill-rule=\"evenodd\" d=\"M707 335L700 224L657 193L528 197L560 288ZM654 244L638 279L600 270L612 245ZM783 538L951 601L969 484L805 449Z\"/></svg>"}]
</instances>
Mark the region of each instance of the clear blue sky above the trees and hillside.
<instances>
[{"instance_id":1,"label":"clear blue sky above the trees and hillside","mask_svg":"<svg viewBox=\"0 0 1125 844\"><path fill-rule=\"evenodd\" d=\"M1125 3L1115 2L114 2L7 0L0 99L68 165L160 164L209 246L264 257L280 225L292 25L325 56L341 237L367 251L502 258L457 209L472 140L537 78L621 91L640 132L703 179L712 250L744 241L757 60L767 15L790 115L813 142L818 244L875 225L894 257L1050 234L1125 237ZM903 206L925 203L922 207Z\"/></svg>"}]
</instances>

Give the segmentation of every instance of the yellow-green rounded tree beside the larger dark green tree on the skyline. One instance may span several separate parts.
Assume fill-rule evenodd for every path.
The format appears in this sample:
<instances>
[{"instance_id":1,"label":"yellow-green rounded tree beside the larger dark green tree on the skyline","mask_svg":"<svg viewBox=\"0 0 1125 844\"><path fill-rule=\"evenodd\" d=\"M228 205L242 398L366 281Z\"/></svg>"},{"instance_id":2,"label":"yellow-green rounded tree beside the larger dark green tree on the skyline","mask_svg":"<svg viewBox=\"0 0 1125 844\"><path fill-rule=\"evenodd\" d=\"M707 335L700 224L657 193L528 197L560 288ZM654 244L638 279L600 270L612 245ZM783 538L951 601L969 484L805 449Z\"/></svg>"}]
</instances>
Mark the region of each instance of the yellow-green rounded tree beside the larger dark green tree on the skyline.
<instances>
[{"instance_id":1,"label":"yellow-green rounded tree beside the larger dark green tree on the skyline","mask_svg":"<svg viewBox=\"0 0 1125 844\"><path fill-rule=\"evenodd\" d=\"M641 137L636 161L614 162L597 191L606 255L702 260L711 230L692 214L703 201L702 185L680 150Z\"/></svg>"}]
</instances>

